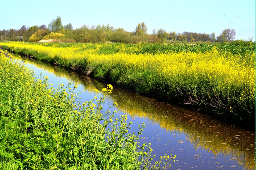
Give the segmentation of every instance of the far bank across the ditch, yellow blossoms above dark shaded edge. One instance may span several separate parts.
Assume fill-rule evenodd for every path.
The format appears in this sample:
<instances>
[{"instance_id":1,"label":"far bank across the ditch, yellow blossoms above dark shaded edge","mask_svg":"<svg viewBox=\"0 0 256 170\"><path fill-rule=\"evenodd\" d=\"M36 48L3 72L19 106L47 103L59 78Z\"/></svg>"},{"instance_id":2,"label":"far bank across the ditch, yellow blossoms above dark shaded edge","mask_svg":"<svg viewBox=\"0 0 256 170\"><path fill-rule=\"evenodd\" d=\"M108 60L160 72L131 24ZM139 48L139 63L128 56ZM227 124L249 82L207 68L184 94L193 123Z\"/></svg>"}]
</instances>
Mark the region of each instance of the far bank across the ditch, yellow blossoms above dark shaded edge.
<instances>
[{"instance_id":1,"label":"far bank across the ditch, yellow blossoms above dark shaded edge","mask_svg":"<svg viewBox=\"0 0 256 170\"><path fill-rule=\"evenodd\" d=\"M84 71L144 95L255 128L255 44L38 44L12 52Z\"/></svg>"}]
</instances>

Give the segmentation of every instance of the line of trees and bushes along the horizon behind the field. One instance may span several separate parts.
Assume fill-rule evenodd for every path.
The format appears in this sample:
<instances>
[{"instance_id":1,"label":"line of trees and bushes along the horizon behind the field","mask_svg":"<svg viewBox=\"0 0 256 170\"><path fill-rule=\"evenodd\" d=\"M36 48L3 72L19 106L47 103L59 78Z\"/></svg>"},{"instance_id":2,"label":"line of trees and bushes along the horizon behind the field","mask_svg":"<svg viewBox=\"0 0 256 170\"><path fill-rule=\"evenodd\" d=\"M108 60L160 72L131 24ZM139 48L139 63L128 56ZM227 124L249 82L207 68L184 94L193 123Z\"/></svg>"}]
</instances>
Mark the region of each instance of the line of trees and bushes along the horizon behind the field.
<instances>
[{"instance_id":1,"label":"line of trees and bushes along the horizon behind the field","mask_svg":"<svg viewBox=\"0 0 256 170\"><path fill-rule=\"evenodd\" d=\"M219 36L215 33L196 33L196 32L166 32L163 28L153 30L151 34L147 33L146 24L139 23L134 32L125 31L123 28L114 28L108 25L82 26L73 29L71 23L63 25L60 16L53 19L46 25L35 25L26 27L23 25L20 29L3 29L0 31L1 41L32 41L37 42L42 39L53 39L63 42L226 42L233 41L236 37L234 29L224 29Z\"/></svg>"}]
</instances>

